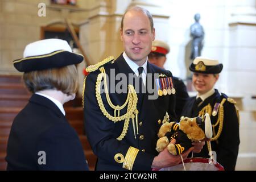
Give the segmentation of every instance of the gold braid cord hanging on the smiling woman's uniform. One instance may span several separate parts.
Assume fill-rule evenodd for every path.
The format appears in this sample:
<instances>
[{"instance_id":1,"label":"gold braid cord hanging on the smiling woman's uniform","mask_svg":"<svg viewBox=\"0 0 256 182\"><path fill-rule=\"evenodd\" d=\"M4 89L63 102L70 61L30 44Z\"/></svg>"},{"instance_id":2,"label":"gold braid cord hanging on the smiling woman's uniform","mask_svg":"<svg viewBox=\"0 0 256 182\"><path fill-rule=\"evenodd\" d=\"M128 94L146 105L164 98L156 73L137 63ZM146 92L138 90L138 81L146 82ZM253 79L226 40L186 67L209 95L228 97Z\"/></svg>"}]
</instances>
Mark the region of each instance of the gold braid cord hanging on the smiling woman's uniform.
<instances>
[{"instance_id":1,"label":"gold braid cord hanging on the smiling woman's uniform","mask_svg":"<svg viewBox=\"0 0 256 182\"><path fill-rule=\"evenodd\" d=\"M224 121L224 103L225 103L226 99L223 98L221 103L220 103L220 108L218 109L218 119L217 122L212 125L212 129L213 129L213 138L210 139L210 141L216 141L220 135L221 135L221 131L223 128L223 121ZM219 125L219 126L218 126ZM218 126L218 132L217 134L215 133L214 127ZM217 141L216 141L217 142ZM210 146L209 146L209 142L207 142L207 147L208 147L208 151L210 151Z\"/></svg>"}]
</instances>

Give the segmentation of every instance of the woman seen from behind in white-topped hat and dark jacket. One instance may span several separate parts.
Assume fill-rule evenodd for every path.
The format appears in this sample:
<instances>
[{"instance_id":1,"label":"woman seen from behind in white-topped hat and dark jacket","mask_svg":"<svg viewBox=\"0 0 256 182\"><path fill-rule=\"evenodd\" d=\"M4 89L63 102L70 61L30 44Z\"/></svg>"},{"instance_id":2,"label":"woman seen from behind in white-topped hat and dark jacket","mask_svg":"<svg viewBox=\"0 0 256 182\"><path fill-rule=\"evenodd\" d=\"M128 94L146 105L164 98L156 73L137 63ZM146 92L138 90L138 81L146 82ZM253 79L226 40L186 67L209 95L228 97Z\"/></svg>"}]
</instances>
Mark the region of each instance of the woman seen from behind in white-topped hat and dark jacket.
<instances>
[{"instance_id":1,"label":"woman seen from behind in white-topped hat and dark jacket","mask_svg":"<svg viewBox=\"0 0 256 182\"><path fill-rule=\"evenodd\" d=\"M73 53L64 40L28 44L14 67L32 96L15 117L7 144L7 170L88 170L79 137L63 104L75 98L78 82Z\"/></svg>"}]
</instances>

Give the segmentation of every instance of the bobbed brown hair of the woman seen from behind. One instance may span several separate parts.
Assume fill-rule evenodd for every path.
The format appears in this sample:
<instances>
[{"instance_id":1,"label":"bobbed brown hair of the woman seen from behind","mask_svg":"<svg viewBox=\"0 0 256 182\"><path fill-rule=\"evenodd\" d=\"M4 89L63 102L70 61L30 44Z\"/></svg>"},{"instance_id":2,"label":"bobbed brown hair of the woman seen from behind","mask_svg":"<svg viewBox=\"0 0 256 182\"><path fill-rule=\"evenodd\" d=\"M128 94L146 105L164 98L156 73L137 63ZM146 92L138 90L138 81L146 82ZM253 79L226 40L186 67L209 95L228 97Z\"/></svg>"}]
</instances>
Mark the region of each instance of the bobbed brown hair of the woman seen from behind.
<instances>
[{"instance_id":1,"label":"bobbed brown hair of the woman seen from behind","mask_svg":"<svg viewBox=\"0 0 256 182\"><path fill-rule=\"evenodd\" d=\"M79 87L78 73L75 65L32 71L23 74L24 84L32 93L40 90L54 89L71 95Z\"/></svg>"}]
</instances>

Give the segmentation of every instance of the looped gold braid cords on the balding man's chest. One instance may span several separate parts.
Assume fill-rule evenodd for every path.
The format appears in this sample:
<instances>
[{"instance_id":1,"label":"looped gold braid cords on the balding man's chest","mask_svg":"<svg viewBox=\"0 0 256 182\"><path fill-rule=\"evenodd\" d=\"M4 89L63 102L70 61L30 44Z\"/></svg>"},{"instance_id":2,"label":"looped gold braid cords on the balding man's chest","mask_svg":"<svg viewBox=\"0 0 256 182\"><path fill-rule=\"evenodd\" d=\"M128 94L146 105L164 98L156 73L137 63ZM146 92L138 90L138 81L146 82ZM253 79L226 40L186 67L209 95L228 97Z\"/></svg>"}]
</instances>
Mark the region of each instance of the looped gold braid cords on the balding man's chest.
<instances>
[{"instance_id":1,"label":"looped gold braid cords on the balding man's chest","mask_svg":"<svg viewBox=\"0 0 256 182\"><path fill-rule=\"evenodd\" d=\"M113 121L114 123L117 121L122 121L125 120L125 123L123 125L123 130L121 135L117 138L117 140L122 140L128 130L129 127L129 121L132 119L134 121L134 118L136 119L136 123L138 125L138 110L137 110L137 102L138 102L138 97L137 93L135 92L134 86L133 85L128 85L128 94L127 94L127 99L125 101L125 104L122 106L114 106L112 101L110 100L109 93L108 93L108 87L107 87L107 82L106 82L106 73L104 67L100 68L101 73L97 77L96 81L96 99L98 102L98 106L100 106L100 109L102 113L105 115L106 118L108 118L110 121ZM105 94L106 94L106 100L108 101L108 104L112 109L114 109L114 116L110 115L108 111L106 111L105 106L103 104L102 98L101 98L101 80L104 78L104 89L105 89ZM127 113L119 116L120 110L123 109L127 105ZM136 117L135 117L135 115ZM133 122L134 123L134 122ZM134 125L134 124L133 124ZM134 138L136 138L135 135L135 130L134 130Z\"/></svg>"}]
</instances>

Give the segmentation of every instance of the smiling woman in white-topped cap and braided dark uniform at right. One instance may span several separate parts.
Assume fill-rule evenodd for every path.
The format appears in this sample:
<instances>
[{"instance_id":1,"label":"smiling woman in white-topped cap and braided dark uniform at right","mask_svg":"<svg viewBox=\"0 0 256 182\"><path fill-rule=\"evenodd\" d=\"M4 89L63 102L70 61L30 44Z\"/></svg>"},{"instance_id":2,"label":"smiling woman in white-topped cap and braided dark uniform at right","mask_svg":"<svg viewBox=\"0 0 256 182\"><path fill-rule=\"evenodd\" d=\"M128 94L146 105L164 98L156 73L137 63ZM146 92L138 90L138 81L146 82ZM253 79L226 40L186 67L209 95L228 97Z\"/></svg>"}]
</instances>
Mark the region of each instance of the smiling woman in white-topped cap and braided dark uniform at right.
<instances>
[{"instance_id":1,"label":"smiling woman in white-topped cap and braided dark uniform at right","mask_svg":"<svg viewBox=\"0 0 256 182\"><path fill-rule=\"evenodd\" d=\"M203 150L194 156L209 158L210 150L217 154L217 162L225 170L234 170L240 144L239 112L236 102L214 89L219 73L223 68L218 60L196 57L189 69L193 72L192 84L197 91L195 97L189 98L183 108L185 117L210 115L213 138L205 144Z\"/></svg>"}]
</instances>

